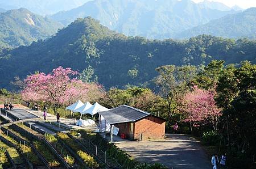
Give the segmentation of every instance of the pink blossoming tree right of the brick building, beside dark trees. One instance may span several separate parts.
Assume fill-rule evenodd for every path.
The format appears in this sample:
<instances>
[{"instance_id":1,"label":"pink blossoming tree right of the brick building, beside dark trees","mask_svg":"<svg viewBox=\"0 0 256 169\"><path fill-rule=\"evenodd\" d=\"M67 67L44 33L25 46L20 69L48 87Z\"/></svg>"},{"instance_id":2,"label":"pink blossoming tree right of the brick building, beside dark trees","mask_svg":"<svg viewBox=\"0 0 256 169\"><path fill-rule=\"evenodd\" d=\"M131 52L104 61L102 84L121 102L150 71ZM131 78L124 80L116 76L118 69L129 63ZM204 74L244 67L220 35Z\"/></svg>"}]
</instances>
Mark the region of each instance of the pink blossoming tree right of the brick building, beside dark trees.
<instances>
[{"instance_id":1,"label":"pink blossoming tree right of the brick building, beside dark trees","mask_svg":"<svg viewBox=\"0 0 256 169\"><path fill-rule=\"evenodd\" d=\"M214 100L215 92L203 90L197 86L193 91L187 92L179 100L179 110L185 115L185 122L191 125L212 125L217 130L218 117L221 116L221 109L217 107Z\"/></svg>"}]
</instances>

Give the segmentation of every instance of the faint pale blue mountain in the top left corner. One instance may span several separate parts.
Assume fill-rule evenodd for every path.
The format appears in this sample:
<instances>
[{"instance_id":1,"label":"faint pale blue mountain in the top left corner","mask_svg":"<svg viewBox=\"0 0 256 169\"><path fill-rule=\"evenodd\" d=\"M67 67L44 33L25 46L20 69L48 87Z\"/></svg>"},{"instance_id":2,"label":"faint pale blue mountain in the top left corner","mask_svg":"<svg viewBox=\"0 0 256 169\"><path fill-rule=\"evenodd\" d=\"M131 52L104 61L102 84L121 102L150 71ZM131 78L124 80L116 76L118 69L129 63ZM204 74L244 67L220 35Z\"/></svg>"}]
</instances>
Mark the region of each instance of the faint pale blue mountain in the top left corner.
<instances>
[{"instance_id":1,"label":"faint pale blue mountain in the top left corner","mask_svg":"<svg viewBox=\"0 0 256 169\"><path fill-rule=\"evenodd\" d=\"M89 0L0 0L3 9L19 9L24 7L35 14L50 15L63 10L71 10Z\"/></svg>"}]
</instances>

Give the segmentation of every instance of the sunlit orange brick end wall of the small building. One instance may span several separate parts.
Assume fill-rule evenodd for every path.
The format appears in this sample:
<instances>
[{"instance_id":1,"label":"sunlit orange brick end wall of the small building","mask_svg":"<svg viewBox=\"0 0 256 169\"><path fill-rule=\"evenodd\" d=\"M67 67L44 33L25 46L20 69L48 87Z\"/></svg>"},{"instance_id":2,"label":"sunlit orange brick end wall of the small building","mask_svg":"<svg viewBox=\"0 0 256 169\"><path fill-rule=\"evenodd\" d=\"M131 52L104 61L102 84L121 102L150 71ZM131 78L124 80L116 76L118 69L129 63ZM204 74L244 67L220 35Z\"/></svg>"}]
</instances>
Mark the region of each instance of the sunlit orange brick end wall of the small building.
<instances>
[{"instance_id":1,"label":"sunlit orange brick end wall of the small building","mask_svg":"<svg viewBox=\"0 0 256 169\"><path fill-rule=\"evenodd\" d=\"M166 122L154 116L147 116L135 122L134 139L139 140L142 134L142 140L164 138Z\"/></svg>"}]
</instances>

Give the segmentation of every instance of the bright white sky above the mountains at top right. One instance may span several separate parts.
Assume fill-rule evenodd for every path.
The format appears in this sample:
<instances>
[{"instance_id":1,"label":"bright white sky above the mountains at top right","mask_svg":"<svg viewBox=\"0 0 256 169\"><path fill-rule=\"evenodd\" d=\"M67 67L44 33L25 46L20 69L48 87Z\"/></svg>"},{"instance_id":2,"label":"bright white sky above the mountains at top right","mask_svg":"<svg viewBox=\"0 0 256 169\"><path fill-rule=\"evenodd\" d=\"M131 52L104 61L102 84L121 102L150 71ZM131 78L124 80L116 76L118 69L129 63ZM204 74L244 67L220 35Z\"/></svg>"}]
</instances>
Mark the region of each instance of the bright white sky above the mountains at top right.
<instances>
[{"instance_id":1,"label":"bright white sky above the mountains at top right","mask_svg":"<svg viewBox=\"0 0 256 169\"><path fill-rule=\"evenodd\" d=\"M194 2L202 2L204 0L192 0ZM238 5L243 9L247 9L250 7L256 7L256 0L208 0L208 1L217 1L224 3L226 6L232 7L234 5Z\"/></svg>"}]
</instances>

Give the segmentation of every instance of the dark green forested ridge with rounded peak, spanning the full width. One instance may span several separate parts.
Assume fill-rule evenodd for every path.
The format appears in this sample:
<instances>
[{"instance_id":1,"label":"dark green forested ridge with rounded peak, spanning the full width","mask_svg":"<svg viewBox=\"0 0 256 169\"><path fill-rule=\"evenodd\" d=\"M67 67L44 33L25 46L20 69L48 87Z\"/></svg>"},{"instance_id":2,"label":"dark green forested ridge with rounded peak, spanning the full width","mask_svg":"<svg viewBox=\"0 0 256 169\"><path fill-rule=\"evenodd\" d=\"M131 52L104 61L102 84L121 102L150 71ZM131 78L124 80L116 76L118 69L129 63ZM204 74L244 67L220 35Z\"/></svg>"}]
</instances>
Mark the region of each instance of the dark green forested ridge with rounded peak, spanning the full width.
<instances>
[{"instance_id":1,"label":"dark green forested ridge with rounded peak, spanning the full width","mask_svg":"<svg viewBox=\"0 0 256 169\"><path fill-rule=\"evenodd\" d=\"M226 64L255 63L255 58L256 41L207 35L185 41L147 40L115 33L89 17L77 19L51 39L3 51L0 88L11 88L10 81L16 76L24 78L37 70L47 73L60 65L79 70L86 80L98 80L109 88L146 84L162 65L208 64L213 59Z\"/></svg>"}]
</instances>

